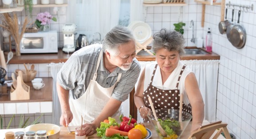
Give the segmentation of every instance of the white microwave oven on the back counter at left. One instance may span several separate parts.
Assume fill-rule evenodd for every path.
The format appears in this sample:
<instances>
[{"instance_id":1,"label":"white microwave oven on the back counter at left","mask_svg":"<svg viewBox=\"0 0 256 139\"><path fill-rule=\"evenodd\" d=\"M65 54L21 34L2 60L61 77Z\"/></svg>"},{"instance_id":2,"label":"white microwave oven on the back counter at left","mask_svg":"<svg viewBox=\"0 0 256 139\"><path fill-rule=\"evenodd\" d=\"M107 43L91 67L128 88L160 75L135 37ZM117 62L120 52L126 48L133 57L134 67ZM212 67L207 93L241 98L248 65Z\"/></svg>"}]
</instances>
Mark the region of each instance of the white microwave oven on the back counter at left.
<instances>
[{"instance_id":1,"label":"white microwave oven on the back counter at left","mask_svg":"<svg viewBox=\"0 0 256 139\"><path fill-rule=\"evenodd\" d=\"M57 31L24 33L20 53L58 53Z\"/></svg>"}]
</instances>

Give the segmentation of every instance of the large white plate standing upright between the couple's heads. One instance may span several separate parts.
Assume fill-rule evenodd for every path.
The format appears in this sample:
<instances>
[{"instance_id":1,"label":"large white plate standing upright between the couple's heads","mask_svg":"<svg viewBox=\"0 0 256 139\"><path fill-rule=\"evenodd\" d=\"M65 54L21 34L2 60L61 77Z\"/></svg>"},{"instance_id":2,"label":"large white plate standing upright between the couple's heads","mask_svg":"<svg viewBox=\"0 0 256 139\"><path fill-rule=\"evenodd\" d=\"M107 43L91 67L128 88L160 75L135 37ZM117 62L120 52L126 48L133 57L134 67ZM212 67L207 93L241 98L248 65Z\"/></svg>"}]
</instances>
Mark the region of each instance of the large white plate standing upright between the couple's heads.
<instances>
[{"instance_id":1,"label":"large white plate standing upright between the couple's heads","mask_svg":"<svg viewBox=\"0 0 256 139\"><path fill-rule=\"evenodd\" d=\"M133 32L136 41L143 43L151 37L152 30L150 25L144 22L131 23L128 28Z\"/></svg>"}]
</instances>

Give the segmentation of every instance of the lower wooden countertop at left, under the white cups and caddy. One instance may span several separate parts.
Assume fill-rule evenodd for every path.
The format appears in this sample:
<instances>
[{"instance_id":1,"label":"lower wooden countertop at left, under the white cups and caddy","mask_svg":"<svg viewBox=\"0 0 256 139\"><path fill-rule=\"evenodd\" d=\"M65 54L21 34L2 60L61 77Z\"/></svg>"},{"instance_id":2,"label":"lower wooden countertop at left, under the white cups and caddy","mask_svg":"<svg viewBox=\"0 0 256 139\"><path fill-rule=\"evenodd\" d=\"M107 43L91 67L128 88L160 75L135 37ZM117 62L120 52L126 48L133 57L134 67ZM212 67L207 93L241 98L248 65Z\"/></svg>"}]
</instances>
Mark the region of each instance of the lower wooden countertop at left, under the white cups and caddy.
<instances>
[{"instance_id":1,"label":"lower wooden countertop at left, under the white cups and caddy","mask_svg":"<svg viewBox=\"0 0 256 139\"><path fill-rule=\"evenodd\" d=\"M52 78L44 77L43 83L45 86L40 90L35 90L31 82L25 82L30 86L30 99L29 100L10 100L10 89L8 89L8 95L0 96L0 103L17 103L17 102L43 102L43 101L52 101Z\"/></svg>"}]
</instances>

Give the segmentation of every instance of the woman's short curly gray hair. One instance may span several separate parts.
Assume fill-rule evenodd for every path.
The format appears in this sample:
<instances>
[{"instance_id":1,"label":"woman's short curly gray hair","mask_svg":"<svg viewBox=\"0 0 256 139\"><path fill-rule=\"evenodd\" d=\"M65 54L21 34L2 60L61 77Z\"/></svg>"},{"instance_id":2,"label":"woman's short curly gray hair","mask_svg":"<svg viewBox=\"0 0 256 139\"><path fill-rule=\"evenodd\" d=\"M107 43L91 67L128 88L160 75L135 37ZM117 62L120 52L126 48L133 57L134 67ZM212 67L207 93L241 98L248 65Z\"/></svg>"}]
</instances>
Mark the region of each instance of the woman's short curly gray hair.
<instances>
[{"instance_id":1,"label":"woman's short curly gray hair","mask_svg":"<svg viewBox=\"0 0 256 139\"><path fill-rule=\"evenodd\" d=\"M169 51L178 51L180 56L185 54L185 40L180 32L175 30L161 29L153 35L152 51L156 53L159 49L167 49Z\"/></svg>"}]
</instances>

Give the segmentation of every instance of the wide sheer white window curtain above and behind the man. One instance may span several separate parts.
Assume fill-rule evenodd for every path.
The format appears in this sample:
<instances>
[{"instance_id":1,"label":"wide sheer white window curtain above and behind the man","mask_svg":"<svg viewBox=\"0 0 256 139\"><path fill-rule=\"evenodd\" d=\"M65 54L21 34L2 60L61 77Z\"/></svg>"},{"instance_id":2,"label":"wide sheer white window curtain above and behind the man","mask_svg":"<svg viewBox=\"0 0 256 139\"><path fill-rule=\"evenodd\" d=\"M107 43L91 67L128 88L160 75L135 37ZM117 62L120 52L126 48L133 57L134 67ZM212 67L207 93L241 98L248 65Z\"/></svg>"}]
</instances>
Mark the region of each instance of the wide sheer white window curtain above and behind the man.
<instances>
[{"instance_id":1,"label":"wide sheer white window curtain above and behind the man","mask_svg":"<svg viewBox=\"0 0 256 139\"><path fill-rule=\"evenodd\" d=\"M77 25L78 34L86 34L92 41L99 32L101 40L118 25L120 0L68 0L67 22Z\"/></svg>"}]
</instances>

